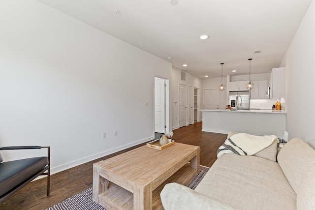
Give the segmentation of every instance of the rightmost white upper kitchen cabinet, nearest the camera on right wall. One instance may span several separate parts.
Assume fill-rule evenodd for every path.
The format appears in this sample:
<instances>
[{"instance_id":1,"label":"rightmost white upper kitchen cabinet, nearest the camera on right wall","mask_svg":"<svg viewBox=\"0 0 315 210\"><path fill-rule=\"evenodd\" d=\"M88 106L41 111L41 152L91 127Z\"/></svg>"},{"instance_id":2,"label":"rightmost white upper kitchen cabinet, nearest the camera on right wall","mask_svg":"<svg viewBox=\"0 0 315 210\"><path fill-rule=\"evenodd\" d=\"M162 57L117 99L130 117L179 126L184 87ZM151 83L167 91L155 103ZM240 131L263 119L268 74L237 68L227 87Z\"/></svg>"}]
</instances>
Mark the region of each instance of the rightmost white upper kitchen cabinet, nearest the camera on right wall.
<instances>
[{"instance_id":1,"label":"rightmost white upper kitchen cabinet, nearest the camera on right wall","mask_svg":"<svg viewBox=\"0 0 315 210\"><path fill-rule=\"evenodd\" d=\"M285 67L271 70L269 87L269 98L285 98Z\"/></svg>"}]
</instances>

